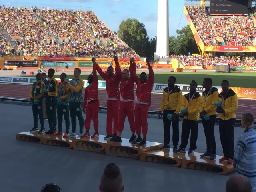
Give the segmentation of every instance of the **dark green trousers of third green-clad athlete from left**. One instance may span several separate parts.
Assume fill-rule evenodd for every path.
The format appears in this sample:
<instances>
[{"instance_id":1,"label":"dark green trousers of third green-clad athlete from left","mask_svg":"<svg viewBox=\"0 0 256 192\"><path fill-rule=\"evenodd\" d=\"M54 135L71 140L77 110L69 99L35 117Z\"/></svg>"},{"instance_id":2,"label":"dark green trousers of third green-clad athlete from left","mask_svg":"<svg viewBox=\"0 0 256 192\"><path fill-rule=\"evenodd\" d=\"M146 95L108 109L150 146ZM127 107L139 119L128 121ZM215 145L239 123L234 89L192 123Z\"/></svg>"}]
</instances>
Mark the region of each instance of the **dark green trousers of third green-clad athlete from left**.
<instances>
[{"instance_id":1,"label":"dark green trousers of third green-clad athlete from left","mask_svg":"<svg viewBox=\"0 0 256 192\"><path fill-rule=\"evenodd\" d=\"M63 116L66 125L66 133L69 131L69 105L57 105L58 131L62 132Z\"/></svg>"}]
</instances>

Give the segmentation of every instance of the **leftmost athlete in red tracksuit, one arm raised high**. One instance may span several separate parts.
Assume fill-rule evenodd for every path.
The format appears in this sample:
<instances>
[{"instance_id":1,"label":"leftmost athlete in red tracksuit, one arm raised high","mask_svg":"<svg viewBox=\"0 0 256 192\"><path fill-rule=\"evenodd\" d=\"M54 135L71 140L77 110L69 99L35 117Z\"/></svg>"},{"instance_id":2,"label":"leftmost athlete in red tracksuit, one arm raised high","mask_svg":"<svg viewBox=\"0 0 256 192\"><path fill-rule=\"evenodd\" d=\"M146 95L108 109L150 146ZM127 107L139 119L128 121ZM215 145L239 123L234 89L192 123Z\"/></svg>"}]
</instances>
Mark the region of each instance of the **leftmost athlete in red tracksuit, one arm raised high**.
<instances>
[{"instance_id":1,"label":"leftmost athlete in red tracksuit, one arm raised high","mask_svg":"<svg viewBox=\"0 0 256 192\"><path fill-rule=\"evenodd\" d=\"M86 114L86 119L84 120L84 127L86 130L86 133L82 135L82 138L90 137L90 126L91 121L93 121L94 130L95 133L92 135L92 138L98 138L99 137L99 120L98 120L98 114L99 114L99 107L100 102L98 99L98 76L96 71L96 62L95 58L92 58L93 62L93 70L92 75L89 75L87 77L87 82L89 85L85 88L84 93L84 104L83 109L84 113Z\"/></svg>"}]
</instances>

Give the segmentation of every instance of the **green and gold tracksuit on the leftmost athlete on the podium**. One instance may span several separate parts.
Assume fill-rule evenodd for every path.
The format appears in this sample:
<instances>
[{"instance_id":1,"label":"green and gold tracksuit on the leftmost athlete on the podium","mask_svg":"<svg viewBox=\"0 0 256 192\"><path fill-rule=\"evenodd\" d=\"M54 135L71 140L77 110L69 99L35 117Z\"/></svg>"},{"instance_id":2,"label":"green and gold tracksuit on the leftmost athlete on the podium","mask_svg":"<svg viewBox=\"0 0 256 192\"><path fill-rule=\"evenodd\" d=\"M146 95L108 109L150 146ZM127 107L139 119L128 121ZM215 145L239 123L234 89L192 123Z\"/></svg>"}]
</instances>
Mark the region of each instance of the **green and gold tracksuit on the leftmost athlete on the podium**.
<instances>
[{"instance_id":1,"label":"green and gold tracksuit on the leftmost athlete on the podium","mask_svg":"<svg viewBox=\"0 0 256 192\"><path fill-rule=\"evenodd\" d=\"M44 82L42 80L33 83L30 89L30 98L38 100L38 104L32 103L32 112L34 119L34 128L38 128L38 115L41 124L41 130L44 129L44 116L43 116L43 89L45 88Z\"/></svg>"}]
</instances>

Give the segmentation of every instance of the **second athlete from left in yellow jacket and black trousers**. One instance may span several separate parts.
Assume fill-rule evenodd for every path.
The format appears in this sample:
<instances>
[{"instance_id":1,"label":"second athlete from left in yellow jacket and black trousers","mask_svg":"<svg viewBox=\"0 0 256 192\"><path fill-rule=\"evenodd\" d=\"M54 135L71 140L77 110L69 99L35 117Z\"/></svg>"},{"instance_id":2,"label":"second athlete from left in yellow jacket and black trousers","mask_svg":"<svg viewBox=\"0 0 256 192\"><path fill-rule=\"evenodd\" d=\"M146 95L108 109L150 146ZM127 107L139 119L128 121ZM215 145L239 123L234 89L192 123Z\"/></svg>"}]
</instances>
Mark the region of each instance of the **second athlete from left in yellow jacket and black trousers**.
<instances>
[{"instance_id":1,"label":"second athlete from left in yellow jacket and black trousers","mask_svg":"<svg viewBox=\"0 0 256 192\"><path fill-rule=\"evenodd\" d=\"M182 99L182 109L186 109L186 112L183 113L184 119L182 123L182 132L181 132L181 145L177 153L184 153L186 146L188 144L189 133L191 130L190 136L190 148L188 154L193 154L196 149L196 141L198 135L198 121L199 121L199 112L201 109L200 103L202 97L198 92L196 92L197 83L193 80L190 83L190 92L185 94Z\"/></svg>"}]
</instances>

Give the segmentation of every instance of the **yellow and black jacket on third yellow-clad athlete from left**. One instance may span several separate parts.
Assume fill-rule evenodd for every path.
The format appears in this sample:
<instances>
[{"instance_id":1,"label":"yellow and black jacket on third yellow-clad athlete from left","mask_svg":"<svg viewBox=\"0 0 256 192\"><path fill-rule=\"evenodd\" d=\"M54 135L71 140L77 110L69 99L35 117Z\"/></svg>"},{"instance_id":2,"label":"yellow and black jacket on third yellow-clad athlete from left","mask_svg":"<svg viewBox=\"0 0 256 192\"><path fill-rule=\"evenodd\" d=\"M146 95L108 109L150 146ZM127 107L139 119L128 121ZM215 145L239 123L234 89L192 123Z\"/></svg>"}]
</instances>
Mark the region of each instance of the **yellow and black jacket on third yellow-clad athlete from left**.
<instances>
[{"instance_id":1,"label":"yellow and black jacket on third yellow-clad athlete from left","mask_svg":"<svg viewBox=\"0 0 256 192\"><path fill-rule=\"evenodd\" d=\"M211 115L216 115L216 102L218 100L218 89L213 87L211 92L208 94L210 90L205 90L202 94L202 109L201 111L205 110L206 115L211 116ZM207 96L208 95L208 96ZM207 96L207 98L206 98Z\"/></svg>"}]
</instances>

